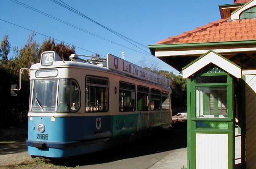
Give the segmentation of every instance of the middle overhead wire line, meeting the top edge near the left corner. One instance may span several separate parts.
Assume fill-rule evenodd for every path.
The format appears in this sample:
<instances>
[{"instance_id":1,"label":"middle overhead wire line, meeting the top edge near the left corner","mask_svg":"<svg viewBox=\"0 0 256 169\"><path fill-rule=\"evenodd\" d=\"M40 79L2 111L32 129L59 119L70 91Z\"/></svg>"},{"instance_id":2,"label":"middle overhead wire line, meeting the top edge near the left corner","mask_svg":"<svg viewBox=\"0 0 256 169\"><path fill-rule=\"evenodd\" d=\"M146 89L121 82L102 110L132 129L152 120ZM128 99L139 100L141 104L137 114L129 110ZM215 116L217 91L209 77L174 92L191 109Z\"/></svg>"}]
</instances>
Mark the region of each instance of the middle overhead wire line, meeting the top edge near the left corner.
<instances>
[{"instance_id":1,"label":"middle overhead wire line, meeting the top edge near the left corner","mask_svg":"<svg viewBox=\"0 0 256 169\"><path fill-rule=\"evenodd\" d=\"M95 37L98 37L98 38L103 39L103 40L105 40L105 41L108 41L108 42L110 42L110 43L119 45L119 46L121 46L121 47L128 48L129 50L133 50L133 51L139 52L139 53L141 53L141 54L145 54L144 52L140 52L140 51L134 50L134 49L129 48L129 47L127 47L127 46L123 46L123 45L121 45L121 44L119 44L119 43L113 42L113 41L111 41L111 40L109 40L109 39L106 39L106 38L104 38L104 37L101 37L101 36L99 36L99 35L96 35L96 34L94 34L94 33L91 33L90 31L87 31L87 30L85 30L85 29L79 28L78 26L75 26L75 25L73 25L73 24L70 24L70 23L68 23L68 22L66 22L66 21L63 21L63 20L61 20L61 19L59 19L59 18L56 18L56 17L54 17L54 16L52 16L52 15L50 15L50 14L47 14L47 13L45 13L45 12L42 12L41 10L38 10L38 9L36 9L36 8L30 7L29 5L24 4L24 3L20 2L20 1L17 1L17 0L11 0L11 1L14 2L14 3L16 3L16 4L19 4L19 5L23 6L23 7L25 7L25 8L28 8L28 9L30 9L30 10L33 10L33 11L35 11L35 12L37 12L37 13L40 13L40 14L46 16L46 17L52 18L52 19L54 19L54 20L56 20L56 21L59 21L59 22L61 22L61 23L63 23L63 24L66 24L66 25L69 25L69 26L71 26L71 27L73 27L73 28L75 28L75 29L78 29L78 30L80 30L80 31L83 31L83 32L85 32L85 33L88 33L88 34L90 34L90 35L93 35L93 36L95 36ZM148 55L148 54L145 54L145 55Z\"/></svg>"}]
</instances>

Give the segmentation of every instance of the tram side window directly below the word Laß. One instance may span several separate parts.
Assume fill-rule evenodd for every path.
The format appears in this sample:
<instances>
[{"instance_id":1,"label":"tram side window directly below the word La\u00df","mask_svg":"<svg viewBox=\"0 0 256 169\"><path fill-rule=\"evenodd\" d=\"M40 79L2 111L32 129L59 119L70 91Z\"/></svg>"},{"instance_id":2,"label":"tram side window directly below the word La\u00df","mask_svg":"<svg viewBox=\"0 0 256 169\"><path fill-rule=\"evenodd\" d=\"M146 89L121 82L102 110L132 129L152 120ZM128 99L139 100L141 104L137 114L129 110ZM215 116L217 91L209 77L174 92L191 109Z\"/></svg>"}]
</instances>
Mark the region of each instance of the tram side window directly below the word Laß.
<instances>
[{"instance_id":1,"label":"tram side window directly below the word La\u00df","mask_svg":"<svg viewBox=\"0 0 256 169\"><path fill-rule=\"evenodd\" d=\"M135 85L119 83L119 111L135 111Z\"/></svg>"}]
</instances>

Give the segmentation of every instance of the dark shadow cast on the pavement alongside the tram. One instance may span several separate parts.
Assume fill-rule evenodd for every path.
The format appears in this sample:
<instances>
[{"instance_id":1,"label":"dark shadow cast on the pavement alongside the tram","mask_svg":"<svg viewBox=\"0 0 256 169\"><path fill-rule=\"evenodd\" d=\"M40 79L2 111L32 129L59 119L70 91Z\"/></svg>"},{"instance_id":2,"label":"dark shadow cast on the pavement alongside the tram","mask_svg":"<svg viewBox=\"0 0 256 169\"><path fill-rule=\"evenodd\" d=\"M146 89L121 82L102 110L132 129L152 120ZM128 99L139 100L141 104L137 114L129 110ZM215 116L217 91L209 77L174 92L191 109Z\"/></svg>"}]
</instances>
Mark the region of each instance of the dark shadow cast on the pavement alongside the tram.
<instances>
[{"instance_id":1,"label":"dark shadow cast on the pavement alongside the tram","mask_svg":"<svg viewBox=\"0 0 256 169\"><path fill-rule=\"evenodd\" d=\"M185 147L187 147L186 125L179 125L173 130L156 130L145 138L132 143L68 159L54 159L50 162L67 167L103 164Z\"/></svg>"}]
</instances>

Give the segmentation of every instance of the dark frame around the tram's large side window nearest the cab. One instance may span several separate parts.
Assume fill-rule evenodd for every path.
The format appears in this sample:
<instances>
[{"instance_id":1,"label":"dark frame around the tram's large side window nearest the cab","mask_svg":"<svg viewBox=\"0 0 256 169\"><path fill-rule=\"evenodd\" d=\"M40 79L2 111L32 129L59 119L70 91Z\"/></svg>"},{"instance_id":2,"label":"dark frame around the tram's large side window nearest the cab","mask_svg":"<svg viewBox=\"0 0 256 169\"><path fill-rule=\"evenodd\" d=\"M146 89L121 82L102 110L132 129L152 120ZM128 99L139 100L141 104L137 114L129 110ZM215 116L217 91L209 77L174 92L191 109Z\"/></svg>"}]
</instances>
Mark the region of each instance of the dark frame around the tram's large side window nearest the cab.
<instances>
[{"instance_id":1,"label":"dark frame around the tram's large side window nearest the cab","mask_svg":"<svg viewBox=\"0 0 256 169\"><path fill-rule=\"evenodd\" d=\"M108 81L108 85L101 85L101 84L94 84L94 83L87 83L87 77L92 77L92 78L95 78L95 79L103 79L103 80L107 80ZM89 85L88 85L89 84ZM86 93L87 93L87 91L86 91L86 87L87 86L94 86L94 87L105 87L105 88L107 88L108 89L108 92L107 92L107 103L106 103L106 107L107 107L107 110L105 110L105 111L87 111L86 110L86 102L87 102L87 99L86 99ZM106 87L107 86L107 87ZM108 112L109 111L109 109L110 109L110 80L108 79L108 78L106 78L106 77L100 77L100 76L91 76L91 75L86 75L85 76L85 105L84 105L84 109L85 109L85 112L86 113L104 113L104 112ZM105 93L106 93L106 91L105 91ZM90 110L90 108L89 108L89 110Z\"/></svg>"}]
</instances>

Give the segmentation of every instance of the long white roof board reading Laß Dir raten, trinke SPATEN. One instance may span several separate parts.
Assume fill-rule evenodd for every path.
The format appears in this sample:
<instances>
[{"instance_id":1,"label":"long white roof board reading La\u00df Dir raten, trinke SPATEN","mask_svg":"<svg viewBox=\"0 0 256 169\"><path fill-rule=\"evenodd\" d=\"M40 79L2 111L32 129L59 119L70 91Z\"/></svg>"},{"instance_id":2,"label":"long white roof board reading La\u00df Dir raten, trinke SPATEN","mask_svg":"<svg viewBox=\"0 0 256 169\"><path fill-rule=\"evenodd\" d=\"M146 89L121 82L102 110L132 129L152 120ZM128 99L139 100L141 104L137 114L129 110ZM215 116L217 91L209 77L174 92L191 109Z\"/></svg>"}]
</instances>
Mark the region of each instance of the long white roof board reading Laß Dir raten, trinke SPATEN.
<instances>
[{"instance_id":1,"label":"long white roof board reading La\u00df Dir raten, trinke SPATEN","mask_svg":"<svg viewBox=\"0 0 256 169\"><path fill-rule=\"evenodd\" d=\"M108 69L170 87L169 79L111 54L108 54Z\"/></svg>"}]
</instances>

